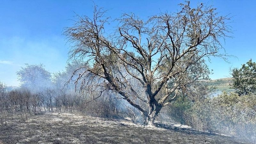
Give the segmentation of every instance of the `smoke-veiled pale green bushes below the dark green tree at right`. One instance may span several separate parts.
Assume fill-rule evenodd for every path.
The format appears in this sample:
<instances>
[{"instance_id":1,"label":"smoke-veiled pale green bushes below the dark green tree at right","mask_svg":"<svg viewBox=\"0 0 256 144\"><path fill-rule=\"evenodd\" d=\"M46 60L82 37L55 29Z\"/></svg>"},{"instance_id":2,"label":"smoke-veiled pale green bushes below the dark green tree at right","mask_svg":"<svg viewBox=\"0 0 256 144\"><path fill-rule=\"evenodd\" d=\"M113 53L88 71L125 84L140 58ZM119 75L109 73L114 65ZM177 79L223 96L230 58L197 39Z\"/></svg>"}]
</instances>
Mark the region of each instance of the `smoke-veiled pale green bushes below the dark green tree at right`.
<instances>
[{"instance_id":1,"label":"smoke-veiled pale green bushes below the dark green tree at right","mask_svg":"<svg viewBox=\"0 0 256 144\"><path fill-rule=\"evenodd\" d=\"M235 134L249 140L256 136L256 95L223 92L212 99L195 101L184 113L187 124L199 130Z\"/></svg>"}]
</instances>

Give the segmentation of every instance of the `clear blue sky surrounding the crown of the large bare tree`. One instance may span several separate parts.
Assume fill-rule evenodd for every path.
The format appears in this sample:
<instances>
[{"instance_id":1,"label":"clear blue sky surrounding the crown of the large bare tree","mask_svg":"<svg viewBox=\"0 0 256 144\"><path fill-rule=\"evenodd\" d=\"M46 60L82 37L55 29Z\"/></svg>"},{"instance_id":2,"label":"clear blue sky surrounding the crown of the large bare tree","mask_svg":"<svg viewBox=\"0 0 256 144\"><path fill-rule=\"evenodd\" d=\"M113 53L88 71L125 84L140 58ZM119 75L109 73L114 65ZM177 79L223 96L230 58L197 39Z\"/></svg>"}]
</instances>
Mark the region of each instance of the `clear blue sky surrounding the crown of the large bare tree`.
<instances>
[{"instance_id":1,"label":"clear blue sky surrounding the crown of the large bare tree","mask_svg":"<svg viewBox=\"0 0 256 144\"><path fill-rule=\"evenodd\" d=\"M0 81L8 86L18 86L16 71L24 63L43 63L46 70L58 72L64 69L68 59L68 44L62 35L62 29L72 26L75 11L79 15L92 15L94 3L109 10L108 15L117 18L124 12L133 12L147 18L160 11L177 11L176 0L1 0L0 1ZM233 39L227 39L223 46L230 63L212 58L209 68L213 69L212 79L230 77L230 68L240 67L252 58L256 61L256 1L191 1L214 5L220 15L231 13L234 16Z\"/></svg>"}]
</instances>

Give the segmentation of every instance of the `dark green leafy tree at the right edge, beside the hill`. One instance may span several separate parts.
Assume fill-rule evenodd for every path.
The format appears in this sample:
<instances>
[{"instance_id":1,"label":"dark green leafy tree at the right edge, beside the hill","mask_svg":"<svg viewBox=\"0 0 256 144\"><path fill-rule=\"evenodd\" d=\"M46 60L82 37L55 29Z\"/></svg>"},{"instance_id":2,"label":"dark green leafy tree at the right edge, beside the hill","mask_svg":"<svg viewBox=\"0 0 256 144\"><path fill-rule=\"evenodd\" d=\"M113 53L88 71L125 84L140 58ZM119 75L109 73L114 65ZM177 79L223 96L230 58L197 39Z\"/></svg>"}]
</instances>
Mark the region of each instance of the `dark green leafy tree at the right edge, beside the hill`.
<instances>
[{"instance_id":1,"label":"dark green leafy tree at the right edge, beside the hill","mask_svg":"<svg viewBox=\"0 0 256 144\"><path fill-rule=\"evenodd\" d=\"M233 88L239 95L256 93L256 62L252 59L242 65L242 68L232 70Z\"/></svg>"}]
</instances>

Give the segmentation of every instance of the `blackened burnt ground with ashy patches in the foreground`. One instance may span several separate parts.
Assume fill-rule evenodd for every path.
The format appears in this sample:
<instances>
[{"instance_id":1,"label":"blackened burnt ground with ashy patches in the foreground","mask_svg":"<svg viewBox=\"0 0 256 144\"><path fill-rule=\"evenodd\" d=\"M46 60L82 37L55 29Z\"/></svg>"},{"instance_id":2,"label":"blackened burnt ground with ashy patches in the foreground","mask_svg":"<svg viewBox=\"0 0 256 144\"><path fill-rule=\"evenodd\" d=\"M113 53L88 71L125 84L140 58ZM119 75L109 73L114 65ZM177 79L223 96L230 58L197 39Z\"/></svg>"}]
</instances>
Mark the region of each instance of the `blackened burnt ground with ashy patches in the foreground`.
<instances>
[{"instance_id":1,"label":"blackened burnt ground with ashy patches in the foreground","mask_svg":"<svg viewBox=\"0 0 256 144\"><path fill-rule=\"evenodd\" d=\"M24 118L23 114L23 118ZM6 143L249 143L245 139L195 130L144 127L125 120L101 120L79 114L43 112L28 114L27 125L19 114L0 123L0 144Z\"/></svg>"}]
</instances>

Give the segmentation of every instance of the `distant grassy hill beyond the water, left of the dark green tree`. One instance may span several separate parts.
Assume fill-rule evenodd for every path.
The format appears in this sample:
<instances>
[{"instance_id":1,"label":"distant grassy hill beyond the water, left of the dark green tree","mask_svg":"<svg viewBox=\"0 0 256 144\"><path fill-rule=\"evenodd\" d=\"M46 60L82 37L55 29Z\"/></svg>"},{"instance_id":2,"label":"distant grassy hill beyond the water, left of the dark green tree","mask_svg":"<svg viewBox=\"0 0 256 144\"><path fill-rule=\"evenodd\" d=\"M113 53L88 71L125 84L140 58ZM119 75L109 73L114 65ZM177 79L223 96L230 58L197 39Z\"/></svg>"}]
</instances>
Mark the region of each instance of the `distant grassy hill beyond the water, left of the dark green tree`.
<instances>
[{"instance_id":1,"label":"distant grassy hill beyond the water, left of the dark green tree","mask_svg":"<svg viewBox=\"0 0 256 144\"><path fill-rule=\"evenodd\" d=\"M209 81L209 85L216 88L216 92L219 91L234 91L234 89L230 88L232 86L233 80L232 78L220 78L216 80Z\"/></svg>"}]
</instances>

